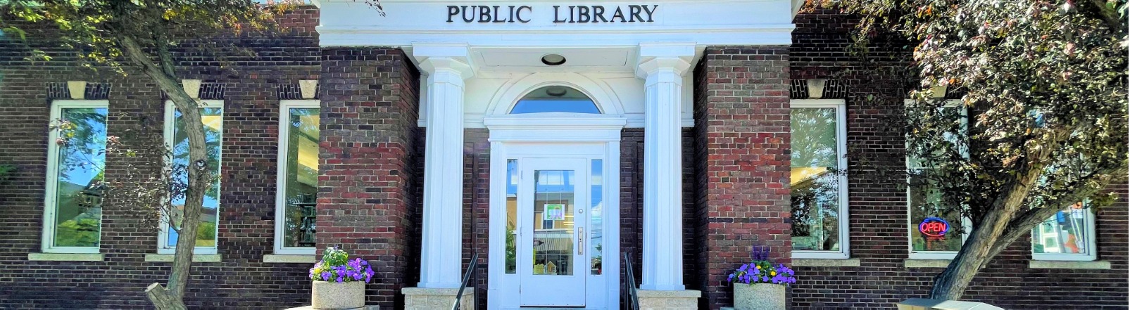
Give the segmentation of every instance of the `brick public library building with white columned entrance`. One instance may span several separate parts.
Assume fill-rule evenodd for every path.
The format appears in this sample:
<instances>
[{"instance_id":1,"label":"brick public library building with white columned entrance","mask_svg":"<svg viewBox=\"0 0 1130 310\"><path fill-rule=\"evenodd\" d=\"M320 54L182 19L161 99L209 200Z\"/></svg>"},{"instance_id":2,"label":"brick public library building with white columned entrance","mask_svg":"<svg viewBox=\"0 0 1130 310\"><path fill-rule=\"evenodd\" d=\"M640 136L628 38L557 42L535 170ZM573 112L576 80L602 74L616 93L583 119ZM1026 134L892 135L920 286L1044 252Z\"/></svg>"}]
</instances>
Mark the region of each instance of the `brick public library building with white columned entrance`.
<instances>
[{"instance_id":1,"label":"brick public library building with white columned entrance","mask_svg":"<svg viewBox=\"0 0 1130 310\"><path fill-rule=\"evenodd\" d=\"M906 55L849 55L844 16L784 0L382 2L386 17L303 7L286 33L232 37L257 56L226 67L176 51L220 176L194 308L308 303L315 249L336 245L374 264L367 298L388 309L453 294L473 254L478 307L617 308L631 267L645 299L718 309L751 246L794 266L793 308L892 308L960 245L918 231L947 219L914 207L929 195L869 174L907 165L892 124L909 88L878 70ZM141 74L28 44L0 39L0 165L17 168L0 183L0 308L146 307L175 233L93 198L94 180L147 159L92 150L158 139L176 162L177 113ZM31 48L55 59L27 62ZM60 118L85 144L53 142ZM1127 308L1127 211L1123 195L1050 219L967 299Z\"/></svg>"}]
</instances>

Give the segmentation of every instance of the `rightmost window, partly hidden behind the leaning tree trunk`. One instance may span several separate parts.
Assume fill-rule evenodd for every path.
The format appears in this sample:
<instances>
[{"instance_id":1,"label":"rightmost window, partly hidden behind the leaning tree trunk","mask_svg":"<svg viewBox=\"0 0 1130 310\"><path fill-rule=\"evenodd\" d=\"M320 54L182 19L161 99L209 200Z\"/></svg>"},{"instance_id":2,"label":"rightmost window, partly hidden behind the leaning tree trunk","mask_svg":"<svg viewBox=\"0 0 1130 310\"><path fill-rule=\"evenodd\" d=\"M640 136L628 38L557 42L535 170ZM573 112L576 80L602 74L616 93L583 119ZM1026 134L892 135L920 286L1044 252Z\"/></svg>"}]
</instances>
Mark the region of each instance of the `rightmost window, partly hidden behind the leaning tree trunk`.
<instances>
[{"instance_id":1,"label":"rightmost window, partly hidden behind the leaning tree trunk","mask_svg":"<svg viewBox=\"0 0 1130 310\"><path fill-rule=\"evenodd\" d=\"M1076 203L1032 229L1032 259L1095 260L1095 214Z\"/></svg>"}]
</instances>

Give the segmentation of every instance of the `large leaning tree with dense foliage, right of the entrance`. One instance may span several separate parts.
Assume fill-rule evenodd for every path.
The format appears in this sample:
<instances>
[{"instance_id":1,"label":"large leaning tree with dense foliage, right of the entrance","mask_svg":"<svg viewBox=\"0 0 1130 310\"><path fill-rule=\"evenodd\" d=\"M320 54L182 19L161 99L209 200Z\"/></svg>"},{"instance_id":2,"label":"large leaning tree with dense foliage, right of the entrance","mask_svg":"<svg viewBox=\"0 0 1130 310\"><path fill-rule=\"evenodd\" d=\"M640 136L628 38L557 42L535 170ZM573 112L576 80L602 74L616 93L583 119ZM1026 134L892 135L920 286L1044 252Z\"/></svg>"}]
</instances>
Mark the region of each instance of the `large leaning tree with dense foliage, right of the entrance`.
<instances>
[{"instance_id":1,"label":"large leaning tree with dense foliage, right of the entrance","mask_svg":"<svg viewBox=\"0 0 1130 310\"><path fill-rule=\"evenodd\" d=\"M1064 207L1113 200L1103 189L1128 163L1125 0L814 2L860 18L855 51L884 36L913 47L907 153L930 169L904 176L971 224L930 298L960 299L996 255ZM935 99L938 87L964 92L959 108Z\"/></svg>"}]
</instances>

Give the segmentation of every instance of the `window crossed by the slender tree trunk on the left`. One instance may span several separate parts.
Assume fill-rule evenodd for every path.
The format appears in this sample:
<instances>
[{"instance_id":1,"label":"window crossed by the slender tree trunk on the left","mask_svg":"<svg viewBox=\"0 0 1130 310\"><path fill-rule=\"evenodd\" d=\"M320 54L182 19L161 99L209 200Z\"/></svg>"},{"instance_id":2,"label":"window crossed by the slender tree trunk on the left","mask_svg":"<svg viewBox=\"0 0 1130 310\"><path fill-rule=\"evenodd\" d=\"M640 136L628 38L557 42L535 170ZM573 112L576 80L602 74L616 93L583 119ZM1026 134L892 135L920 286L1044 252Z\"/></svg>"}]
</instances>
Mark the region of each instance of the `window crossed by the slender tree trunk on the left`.
<instances>
[{"instance_id":1,"label":"window crossed by the slender tree trunk on the left","mask_svg":"<svg viewBox=\"0 0 1130 310\"><path fill-rule=\"evenodd\" d=\"M205 125L205 144L208 147L208 171L212 184L205 193L203 209L200 212L200 228L197 231L195 254L216 254L216 236L219 233L219 191L220 162L224 138L224 101L201 100L200 117ZM184 134L184 122L181 112L173 107L172 101L165 104L165 142L172 150L173 178L188 181L185 167L189 165L189 140ZM174 195L172 219L162 221L162 232L158 237L157 253L173 254L176 248L177 233L169 224L180 224L180 213L184 207L184 195Z\"/></svg>"}]
</instances>

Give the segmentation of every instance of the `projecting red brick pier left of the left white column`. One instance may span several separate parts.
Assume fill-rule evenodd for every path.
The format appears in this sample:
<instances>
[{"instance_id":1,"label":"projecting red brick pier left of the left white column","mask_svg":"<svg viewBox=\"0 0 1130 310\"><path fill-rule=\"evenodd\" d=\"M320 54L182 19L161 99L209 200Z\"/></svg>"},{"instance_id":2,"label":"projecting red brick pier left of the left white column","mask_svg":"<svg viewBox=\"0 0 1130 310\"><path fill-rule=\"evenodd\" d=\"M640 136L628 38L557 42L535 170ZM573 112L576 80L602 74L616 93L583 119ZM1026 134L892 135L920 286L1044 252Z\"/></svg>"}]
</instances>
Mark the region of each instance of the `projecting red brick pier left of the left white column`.
<instances>
[{"instance_id":1,"label":"projecting red brick pier left of the left white column","mask_svg":"<svg viewBox=\"0 0 1130 310\"><path fill-rule=\"evenodd\" d=\"M419 73L400 50L325 48L320 89L318 243L368 259L368 301L403 307L419 250Z\"/></svg>"}]
</instances>

